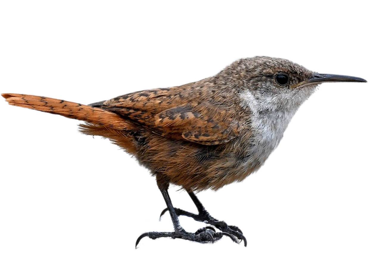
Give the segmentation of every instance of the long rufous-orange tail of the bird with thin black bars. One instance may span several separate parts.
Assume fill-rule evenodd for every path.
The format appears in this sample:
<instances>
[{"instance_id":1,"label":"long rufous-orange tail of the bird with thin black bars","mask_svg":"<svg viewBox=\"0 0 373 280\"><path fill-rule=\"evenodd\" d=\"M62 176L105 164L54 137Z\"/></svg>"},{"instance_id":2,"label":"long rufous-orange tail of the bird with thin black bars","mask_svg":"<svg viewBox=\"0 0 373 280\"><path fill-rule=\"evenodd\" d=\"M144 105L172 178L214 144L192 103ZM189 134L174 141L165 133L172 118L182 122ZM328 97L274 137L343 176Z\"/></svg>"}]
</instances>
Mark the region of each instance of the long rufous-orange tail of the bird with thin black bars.
<instances>
[{"instance_id":1,"label":"long rufous-orange tail of the bird with thin black bars","mask_svg":"<svg viewBox=\"0 0 373 280\"><path fill-rule=\"evenodd\" d=\"M71 119L90 122L114 130L131 130L133 125L119 115L88 105L43 96L3 93L5 100L14 106L62 115Z\"/></svg>"}]
</instances>

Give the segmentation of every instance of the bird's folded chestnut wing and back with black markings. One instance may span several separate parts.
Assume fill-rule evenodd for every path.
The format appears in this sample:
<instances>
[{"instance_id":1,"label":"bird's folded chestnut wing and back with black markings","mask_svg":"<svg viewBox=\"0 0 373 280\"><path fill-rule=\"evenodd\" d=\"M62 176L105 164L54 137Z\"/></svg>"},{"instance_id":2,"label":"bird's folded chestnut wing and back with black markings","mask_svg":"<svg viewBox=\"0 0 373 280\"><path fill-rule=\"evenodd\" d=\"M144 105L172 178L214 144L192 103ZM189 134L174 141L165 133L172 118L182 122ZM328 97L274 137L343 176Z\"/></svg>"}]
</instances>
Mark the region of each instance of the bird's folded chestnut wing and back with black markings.
<instances>
[{"instance_id":1,"label":"bird's folded chestnut wing and back with black markings","mask_svg":"<svg viewBox=\"0 0 373 280\"><path fill-rule=\"evenodd\" d=\"M235 110L216 100L211 85L201 82L137 91L92 106L115 112L172 139L204 145L231 141L242 129Z\"/></svg>"}]
</instances>

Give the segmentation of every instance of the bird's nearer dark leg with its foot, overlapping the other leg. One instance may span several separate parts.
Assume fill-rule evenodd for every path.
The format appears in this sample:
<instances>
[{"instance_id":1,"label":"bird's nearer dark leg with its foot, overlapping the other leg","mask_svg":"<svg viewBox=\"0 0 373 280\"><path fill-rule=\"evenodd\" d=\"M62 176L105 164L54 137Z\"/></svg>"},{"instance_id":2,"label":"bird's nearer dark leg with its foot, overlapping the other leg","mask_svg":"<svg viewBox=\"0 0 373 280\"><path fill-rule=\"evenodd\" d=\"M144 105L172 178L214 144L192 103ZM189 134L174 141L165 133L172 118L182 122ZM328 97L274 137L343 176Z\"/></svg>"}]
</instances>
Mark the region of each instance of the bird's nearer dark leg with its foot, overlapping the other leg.
<instances>
[{"instance_id":1,"label":"bird's nearer dark leg with its foot, overlapping the other leg","mask_svg":"<svg viewBox=\"0 0 373 280\"><path fill-rule=\"evenodd\" d=\"M191 240L194 242L199 243L213 243L214 241L217 241L223 237L223 235L229 236L234 242L238 243L236 237L234 237L232 234L228 232L215 232L214 228L212 227L204 227L198 229L195 233L190 233L184 230L182 226L180 225L178 214L175 211L175 208L172 205L169 193L168 193L168 187L169 183L167 181L162 181L162 178L160 178L157 175L157 184L158 187L163 195L164 201L167 205L167 210L170 212L171 220L173 223L173 228L175 231L172 232L157 232L157 231L150 231L141 234L138 239L136 240L135 248L137 247L140 240L147 236L151 239L157 239L160 237L172 237L175 238L181 238L185 240Z\"/></svg>"}]
</instances>

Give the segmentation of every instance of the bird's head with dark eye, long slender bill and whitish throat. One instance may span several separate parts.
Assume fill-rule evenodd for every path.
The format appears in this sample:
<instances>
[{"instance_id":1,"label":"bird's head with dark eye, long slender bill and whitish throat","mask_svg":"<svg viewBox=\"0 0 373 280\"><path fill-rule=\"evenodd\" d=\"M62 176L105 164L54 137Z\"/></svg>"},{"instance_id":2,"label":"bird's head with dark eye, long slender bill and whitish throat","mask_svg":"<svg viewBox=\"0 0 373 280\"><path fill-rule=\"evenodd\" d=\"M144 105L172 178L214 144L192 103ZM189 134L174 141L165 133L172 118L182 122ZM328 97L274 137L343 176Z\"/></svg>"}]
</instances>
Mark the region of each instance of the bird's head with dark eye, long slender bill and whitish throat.
<instances>
[{"instance_id":1,"label":"bird's head with dark eye, long slender bill and whitish throat","mask_svg":"<svg viewBox=\"0 0 373 280\"><path fill-rule=\"evenodd\" d=\"M240 59L220 75L239 85L240 95L258 110L296 110L325 82L366 82L358 77L319 74L286 59L256 56Z\"/></svg>"}]
</instances>

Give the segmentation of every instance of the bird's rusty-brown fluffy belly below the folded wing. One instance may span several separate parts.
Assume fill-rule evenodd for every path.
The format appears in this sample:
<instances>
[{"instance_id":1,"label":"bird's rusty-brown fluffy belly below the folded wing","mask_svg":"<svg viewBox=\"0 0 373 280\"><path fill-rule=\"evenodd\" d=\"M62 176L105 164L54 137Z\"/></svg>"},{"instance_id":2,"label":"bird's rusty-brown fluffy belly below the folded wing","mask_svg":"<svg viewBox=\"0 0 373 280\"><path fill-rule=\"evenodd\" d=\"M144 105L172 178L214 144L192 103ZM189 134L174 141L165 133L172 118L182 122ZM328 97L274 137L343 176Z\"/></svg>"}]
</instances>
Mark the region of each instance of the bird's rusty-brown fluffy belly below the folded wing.
<instances>
[{"instance_id":1,"label":"bird's rusty-brown fluffy belly below the folded wing","mask_svg":"<svg viewBox=\"0 0 373 280\"><path fill-rule=\"evenodd\" d=\"M153 174L166 175L170 183L187 191L219 189L241 181L256 168L242 139L220 145L201 145L172 140L144 131L137 158ZM240 143L241 142L241 143Z\"/></svg>"}]
</instances>

